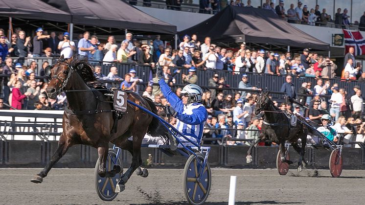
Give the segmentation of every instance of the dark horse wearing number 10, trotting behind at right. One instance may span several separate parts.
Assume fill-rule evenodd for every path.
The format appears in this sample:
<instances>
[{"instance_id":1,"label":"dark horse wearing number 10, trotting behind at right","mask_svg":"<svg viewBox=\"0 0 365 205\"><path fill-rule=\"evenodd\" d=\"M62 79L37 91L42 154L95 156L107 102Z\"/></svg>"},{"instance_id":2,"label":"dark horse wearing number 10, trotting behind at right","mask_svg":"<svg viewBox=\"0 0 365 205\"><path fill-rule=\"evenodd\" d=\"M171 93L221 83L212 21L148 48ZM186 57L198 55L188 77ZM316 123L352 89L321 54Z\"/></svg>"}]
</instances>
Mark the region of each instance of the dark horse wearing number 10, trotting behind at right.
<instances>
[{"instance_id":1,"label":"dark horse wearing number 10, trotting behind at right","mask_svg":"<svg viewBox=\"0 0 365 205\"><path fill-rule=\"evenodd\" d=\"M298 171L302 171L304 164L305 146L307 143L308 128L301 120L297 120L295 126L291 125L290 119L283 111L278 109L274 102L269 98L269 92L263 91L256 98L256 107L254 114L258 115L264 112L264 122L262 124L262 133L258 139L250 146L247 152L247 163L252 161L251 151L253 146L266 137L279 145L281 151L281 160L289 164L292 161L285 159L285 141L288 140L299 154ZM301 139L301 148L298 145L298 139ZM304 163L304 164L303 164Z\"/></svg>"}]
</instances>

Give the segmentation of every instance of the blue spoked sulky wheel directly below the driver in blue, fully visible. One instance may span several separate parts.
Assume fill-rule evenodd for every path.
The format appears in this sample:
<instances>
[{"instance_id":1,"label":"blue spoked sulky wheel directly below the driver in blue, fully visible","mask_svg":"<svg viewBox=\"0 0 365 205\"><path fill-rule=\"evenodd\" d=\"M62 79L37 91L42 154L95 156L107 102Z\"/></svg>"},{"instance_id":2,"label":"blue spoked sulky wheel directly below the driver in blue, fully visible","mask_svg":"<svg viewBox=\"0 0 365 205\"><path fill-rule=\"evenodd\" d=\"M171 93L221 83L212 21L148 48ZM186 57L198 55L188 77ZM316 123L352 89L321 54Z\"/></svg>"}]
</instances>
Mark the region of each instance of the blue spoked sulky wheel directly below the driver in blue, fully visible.
<instances>
[{"instance_id":1,"label":"blue spoked sulky wheel directly below the driver in blue, fully visible","mask_svg":"<svg viewBox=\"0 0 365 205\"><path fill-rule=\"evenodd\" d=\"M185 198L189 204L202 205L208 198L211 185L211 172L208 162L206 162L203 174L201 174L204 155L196 153L187 159L183 174L183 187ZM199 161L199 162L198 162Z\"/></svg>"}]
</instances>

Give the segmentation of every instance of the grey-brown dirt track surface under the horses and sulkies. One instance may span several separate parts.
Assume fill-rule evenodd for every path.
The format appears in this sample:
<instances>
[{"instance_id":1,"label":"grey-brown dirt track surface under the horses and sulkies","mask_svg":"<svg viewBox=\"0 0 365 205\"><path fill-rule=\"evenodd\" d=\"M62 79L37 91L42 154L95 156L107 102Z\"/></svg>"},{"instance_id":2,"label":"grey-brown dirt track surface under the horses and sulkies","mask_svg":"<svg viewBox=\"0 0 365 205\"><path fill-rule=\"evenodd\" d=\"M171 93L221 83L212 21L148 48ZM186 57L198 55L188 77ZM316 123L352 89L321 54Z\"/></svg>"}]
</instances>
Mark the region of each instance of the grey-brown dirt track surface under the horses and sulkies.
<instances>
[{"instance_id":1,"label":"grey-brown dirt track surface under the horses and sulkies","mask_svg":"<svg viewBox=\"0 0 365 205\"><path fill-rule=\"evenodd\" d=\"M160 205L186 204L182 169L149 169L149 177L133 175L113 202L101 201L93 169L52 169L41 184L30 182L41 169L0 169L0 204ZM328 170L212 169L207 205L227 205L229 178L237 176L237 205L364 204L365 170L343 170L340 178Z\"/></svg>"}]
</instances>

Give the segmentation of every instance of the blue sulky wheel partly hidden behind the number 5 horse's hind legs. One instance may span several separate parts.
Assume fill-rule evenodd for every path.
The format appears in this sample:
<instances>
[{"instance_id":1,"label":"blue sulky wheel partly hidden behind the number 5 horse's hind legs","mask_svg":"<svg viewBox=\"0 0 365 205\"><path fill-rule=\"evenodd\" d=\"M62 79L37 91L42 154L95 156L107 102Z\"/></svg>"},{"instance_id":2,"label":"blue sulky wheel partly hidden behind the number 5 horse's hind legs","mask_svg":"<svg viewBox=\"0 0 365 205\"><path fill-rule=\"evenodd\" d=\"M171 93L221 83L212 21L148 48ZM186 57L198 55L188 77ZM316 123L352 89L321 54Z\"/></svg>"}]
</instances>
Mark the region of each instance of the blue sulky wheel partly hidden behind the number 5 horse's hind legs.
<instances>
[{"instance_id":1,"label":"blue sulky wheel partly hidden behind the number 5 horse's hind legs","mask_svg":"<svg viewBox=\"0 0 365 205\"><path fill-rule=\"evenodd\" d=\"M114 177L102 178L98 175L99 159L95 164L94 181L96 193L103 201L112 201L118 195L118 193L115 193L115 186L123 174L123 164L119 158L116 159L116 151L114 149L109 149L106 163L107 171L112 171L114 165L119 165L121 171Z\"/></svg>"}]
</instances>

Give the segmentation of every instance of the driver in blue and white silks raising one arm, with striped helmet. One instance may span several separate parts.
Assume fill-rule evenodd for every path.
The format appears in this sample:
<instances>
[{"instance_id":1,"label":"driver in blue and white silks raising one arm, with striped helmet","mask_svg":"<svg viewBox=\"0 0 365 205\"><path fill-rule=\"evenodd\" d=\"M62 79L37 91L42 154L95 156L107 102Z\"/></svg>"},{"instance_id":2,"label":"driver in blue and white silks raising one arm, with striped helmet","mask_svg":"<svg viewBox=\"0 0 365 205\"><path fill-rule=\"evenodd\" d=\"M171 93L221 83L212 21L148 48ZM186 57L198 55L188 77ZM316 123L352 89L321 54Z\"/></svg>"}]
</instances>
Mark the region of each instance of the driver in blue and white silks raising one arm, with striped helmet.
<instances>
[{"instance_id":1,"label":"driver in blue and white silks raising one arm, with striped helmet","mask_svg":"<svg viewBox=\"0 0 365 205\"><path fill-rule=\"evenodd\" d=\"M202 104L203 90L195 84L186 85L181 91L183 97L180 99L166 84L163 79L164 75L162 68L159 65L157 67L157 76L159 78L163 96L165 96L171 105L171 107L167 109L167 114L177 118L176 129L187 138L200 144L203 136L204 124L208 117L208 113ZM183 137L179 137L179 139L184 145L191 146Z\"/></svg>"}]
</instances>

